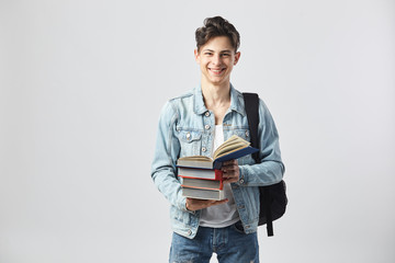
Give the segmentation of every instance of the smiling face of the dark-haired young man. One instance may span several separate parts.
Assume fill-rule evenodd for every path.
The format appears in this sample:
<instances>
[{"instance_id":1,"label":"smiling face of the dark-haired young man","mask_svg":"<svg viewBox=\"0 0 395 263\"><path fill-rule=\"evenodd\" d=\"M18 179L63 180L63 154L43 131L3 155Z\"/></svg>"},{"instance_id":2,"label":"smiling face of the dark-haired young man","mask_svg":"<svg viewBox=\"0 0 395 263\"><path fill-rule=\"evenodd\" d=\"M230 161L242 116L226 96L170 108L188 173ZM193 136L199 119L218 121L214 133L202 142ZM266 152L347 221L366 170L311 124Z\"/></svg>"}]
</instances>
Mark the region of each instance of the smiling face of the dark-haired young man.
<instances>
[{"instance_id":1,"label":"smiling face of the dark-haired young man","mask_svg":"<svg viewBox=\"0 0 395 263\"><path fill-rule=\"evenodd\" d=\"M227 36L211 38L194 54L202 72L202 84L229 85L230 72L240 53L236 53Z\"/></svg>"}]
</instances>

